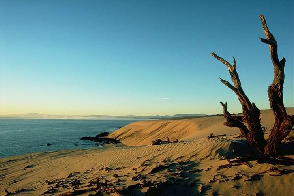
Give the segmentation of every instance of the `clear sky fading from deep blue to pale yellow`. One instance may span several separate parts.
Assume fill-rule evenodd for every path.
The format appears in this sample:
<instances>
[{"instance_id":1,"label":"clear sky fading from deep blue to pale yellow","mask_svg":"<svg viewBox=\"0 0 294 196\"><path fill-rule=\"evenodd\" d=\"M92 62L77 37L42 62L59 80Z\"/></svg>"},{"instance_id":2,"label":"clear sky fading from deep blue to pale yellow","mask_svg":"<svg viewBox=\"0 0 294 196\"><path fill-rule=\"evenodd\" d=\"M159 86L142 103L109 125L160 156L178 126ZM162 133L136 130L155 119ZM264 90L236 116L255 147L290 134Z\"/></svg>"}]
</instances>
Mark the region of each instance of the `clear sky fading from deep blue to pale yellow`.
<instances>
[{"instance_id":1,"label":"clear sky fading from deep blue to pale yellow","mask_svg":"<svg viewBox=\"0 0 294 196\"><path fill-rule=\"evenodd\" d=\"M0 114L173 115L241 112L219 80L232 61L269 109L263 14L286 58L294 107L293 0L0 0Z\"/></svg>"}]
</instances>

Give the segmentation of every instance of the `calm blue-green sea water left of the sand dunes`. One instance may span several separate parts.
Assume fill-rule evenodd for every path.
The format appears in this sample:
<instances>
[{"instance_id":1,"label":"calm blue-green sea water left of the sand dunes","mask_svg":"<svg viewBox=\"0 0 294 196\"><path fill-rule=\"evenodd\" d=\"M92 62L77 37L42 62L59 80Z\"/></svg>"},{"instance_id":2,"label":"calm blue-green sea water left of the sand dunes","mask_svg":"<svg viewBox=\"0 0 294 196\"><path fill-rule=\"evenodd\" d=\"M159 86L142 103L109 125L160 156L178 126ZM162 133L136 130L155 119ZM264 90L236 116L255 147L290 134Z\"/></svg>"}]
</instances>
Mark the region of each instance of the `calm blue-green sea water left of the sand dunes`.
<instances>
[{"instance_id":1,"label":"calm blue-green sea water left of the sand dunes","mask_svg":"<svg viewBox=\"0 0 294 196\"><path fill-rule=\"evenodd\" d=\"M114 131L135 120L63 120L0 118L0 157L63 149L99 148L80 140ZM47 146L47 143L52 144ZM77 146L76 146L77 145Z\"/></svg>"}]
</instances>

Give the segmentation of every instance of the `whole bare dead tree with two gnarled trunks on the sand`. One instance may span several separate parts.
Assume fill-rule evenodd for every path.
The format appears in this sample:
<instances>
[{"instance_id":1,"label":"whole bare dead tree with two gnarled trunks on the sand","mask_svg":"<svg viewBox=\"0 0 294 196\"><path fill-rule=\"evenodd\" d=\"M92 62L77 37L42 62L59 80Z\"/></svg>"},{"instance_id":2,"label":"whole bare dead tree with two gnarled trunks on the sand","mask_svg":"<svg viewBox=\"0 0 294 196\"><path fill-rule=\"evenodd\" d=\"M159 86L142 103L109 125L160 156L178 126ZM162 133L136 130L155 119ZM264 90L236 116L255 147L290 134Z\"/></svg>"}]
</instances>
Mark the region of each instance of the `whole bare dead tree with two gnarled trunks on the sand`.
<instances>
[{"instance_id":1,"label":"whole bare dead tree with two gnarled trunks on the sand","mask_svg":"<svg viewBox=\"0 0 294 196\"><path fill-rule=\"evenodd\" d=\"M279 61L277 53L277 42L273 35L270 33L266 20L263 15L260 15L263 24L263 29L267 39L260 38L263 43L270 46L270 57L274 66L274 79L268 88L268 95L270 100L270 108L274 112L275 123L270 132L270 136L266 141L260 123L260 110L251 103L246 96L236 70L236 61L233 57L233 65L219 57L216 53L212 52L211 55L217 60L221 61L227 66L231 79L234 85L228 81L221 79L221 82L229 87L237 95L243 109L243 116L232 116L227 110L227 103L222 103L223 115L226 118L225 126L237 127L245 136L248 143L255 147L259 152L266 155L275 155L278 153L278 148L281 141L287 137L291 128L294 126L294 116L287 114L283 103L283 85L284 85L284 66L285 58ZM245 125L246 124L246 125Z\"/></svg>"}]
</instances>

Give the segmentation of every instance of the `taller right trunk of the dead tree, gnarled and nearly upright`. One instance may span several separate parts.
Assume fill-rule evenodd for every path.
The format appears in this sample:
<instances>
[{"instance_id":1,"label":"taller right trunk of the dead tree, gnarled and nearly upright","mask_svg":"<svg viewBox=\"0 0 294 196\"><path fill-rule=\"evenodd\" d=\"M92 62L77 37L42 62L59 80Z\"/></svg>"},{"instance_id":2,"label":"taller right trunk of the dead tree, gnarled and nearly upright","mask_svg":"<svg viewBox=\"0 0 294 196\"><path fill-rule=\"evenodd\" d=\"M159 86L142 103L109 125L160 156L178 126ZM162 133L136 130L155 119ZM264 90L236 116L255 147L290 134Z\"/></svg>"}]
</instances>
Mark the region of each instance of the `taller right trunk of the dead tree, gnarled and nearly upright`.
<instances>
[{"instance_id":1,"label":"taller right trunk of the dead tree, gnarled and nearly upright","mask_svg":"<svg viewBox=\"0 0 294 196\"><path fill-rule=\"evenodd\" d=\"M272 84L268 88L270 108L274 113L274 126L265 147L265 154L274 155L278 153L278 147L281 141L289 135L291 128L294 126L294 116L287 114L283 103L284 67L286 59L282 58L282 60L279 61L278 44L274 36L270 33L264 16L260 15L260 19L267 38L260 39L263 43L269 44L270 58L274 67L274 78Z\"/></svg>"}]
</instances>

